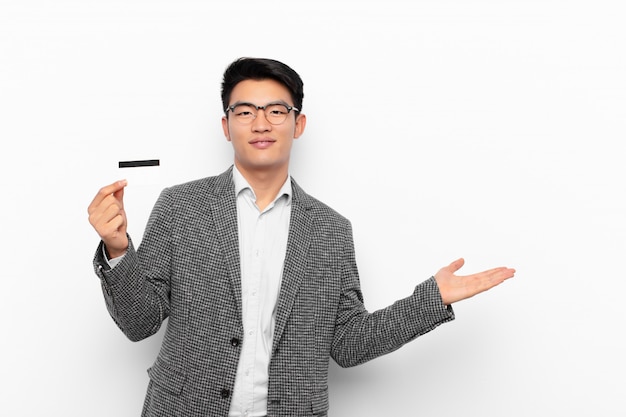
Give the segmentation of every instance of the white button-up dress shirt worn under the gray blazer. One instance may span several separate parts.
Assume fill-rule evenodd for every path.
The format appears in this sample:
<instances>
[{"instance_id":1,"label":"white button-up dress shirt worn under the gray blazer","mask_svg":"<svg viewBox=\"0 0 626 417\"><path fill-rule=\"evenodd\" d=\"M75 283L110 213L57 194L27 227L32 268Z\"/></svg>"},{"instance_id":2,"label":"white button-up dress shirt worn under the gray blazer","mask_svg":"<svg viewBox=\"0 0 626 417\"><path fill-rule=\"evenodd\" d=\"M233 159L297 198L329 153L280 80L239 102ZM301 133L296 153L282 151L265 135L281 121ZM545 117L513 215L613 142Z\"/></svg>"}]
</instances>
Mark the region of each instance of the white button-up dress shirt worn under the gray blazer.
<instances>
[{"instance_id":1,"label":"white button-up dress shirt worn under the gray blazer","mask_svg":"<svg viewBox=\"0 0 626 417\"><path fill-rule=\"evenodd\" d=\"M288 177L274 201L261 212L254 191L236 167L233 180L244 339L229 416L261 417L267 414L268 369L289 234L291 181Z\"/></svg>"}]
</instances>

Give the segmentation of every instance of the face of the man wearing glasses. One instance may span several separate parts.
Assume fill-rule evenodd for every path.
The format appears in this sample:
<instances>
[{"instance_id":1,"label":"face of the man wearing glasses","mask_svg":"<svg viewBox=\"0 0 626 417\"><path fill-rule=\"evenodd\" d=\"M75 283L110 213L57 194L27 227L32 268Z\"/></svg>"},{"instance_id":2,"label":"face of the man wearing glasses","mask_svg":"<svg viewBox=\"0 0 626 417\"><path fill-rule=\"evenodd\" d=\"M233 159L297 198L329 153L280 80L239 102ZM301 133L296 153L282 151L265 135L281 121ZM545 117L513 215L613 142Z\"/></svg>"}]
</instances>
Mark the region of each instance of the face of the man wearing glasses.
<instances>
[{"instance_id":1,"label":"face of the man wearing glasses","mask_svg":"<svg viewBox=\"0 0 626 417\"><path fill-rule=\"evenodd\" d=\"M265 106L268 103L282 102L290 106L294 103L289 90L274 80L245 80L233 89L228 105L251 103ZM289 167L289 156L294 139L300 137L306 125L306 117L296 117L293 111L281 124L271 124L264 110L249 124L241 124L229 112L222 117L222 128L226 139L235 151L235 164L242 172L284 171Z\"/></svg>"}]
</instances>

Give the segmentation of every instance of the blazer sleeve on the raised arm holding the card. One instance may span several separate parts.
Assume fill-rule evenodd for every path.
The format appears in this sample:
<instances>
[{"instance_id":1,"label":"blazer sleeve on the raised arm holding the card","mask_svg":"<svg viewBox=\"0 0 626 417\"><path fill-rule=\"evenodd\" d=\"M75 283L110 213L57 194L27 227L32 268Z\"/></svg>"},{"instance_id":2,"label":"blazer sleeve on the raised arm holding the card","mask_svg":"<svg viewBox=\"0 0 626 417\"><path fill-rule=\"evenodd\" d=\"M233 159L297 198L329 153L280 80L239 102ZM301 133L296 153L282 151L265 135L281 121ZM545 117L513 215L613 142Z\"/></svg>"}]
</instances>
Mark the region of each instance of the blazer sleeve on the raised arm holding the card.
<instances>
[{"instance_id":1,"label":"blazer sleeve on the raised arm holding the card","mask_svg":"<svg viewBox=\"0 0 626 417\"><path fill-rule=\"evenodd\" d=\"M170 311L171 205L164 190L157 200L142 243L129 248L114 268L103 259L100 242L93 260L109 314L132 341L155 334Z\"/></svg>"}]
</instances>

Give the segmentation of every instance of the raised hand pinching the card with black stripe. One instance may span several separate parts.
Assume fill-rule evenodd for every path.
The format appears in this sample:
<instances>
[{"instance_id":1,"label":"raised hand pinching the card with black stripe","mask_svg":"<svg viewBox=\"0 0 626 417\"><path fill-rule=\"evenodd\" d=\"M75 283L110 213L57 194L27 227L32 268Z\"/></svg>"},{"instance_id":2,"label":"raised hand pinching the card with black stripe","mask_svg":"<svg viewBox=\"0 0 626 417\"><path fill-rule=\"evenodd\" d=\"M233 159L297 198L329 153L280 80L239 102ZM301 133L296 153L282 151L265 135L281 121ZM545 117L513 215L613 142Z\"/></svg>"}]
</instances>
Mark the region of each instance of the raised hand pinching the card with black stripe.
<instances>
[{"instance_id":1,"label":"raised hand pinching the card with black stripe","mask_svg":"<svg viewBox=\"0 0 626 417\"><path fill-rule=\"evenodd\" d=\"M124 211L124 187L127 184L126 180L121 180L102 187L87 209L89 223L104 242L109 259L124 255L128 249Z\"/></svg>"}]
</instances>

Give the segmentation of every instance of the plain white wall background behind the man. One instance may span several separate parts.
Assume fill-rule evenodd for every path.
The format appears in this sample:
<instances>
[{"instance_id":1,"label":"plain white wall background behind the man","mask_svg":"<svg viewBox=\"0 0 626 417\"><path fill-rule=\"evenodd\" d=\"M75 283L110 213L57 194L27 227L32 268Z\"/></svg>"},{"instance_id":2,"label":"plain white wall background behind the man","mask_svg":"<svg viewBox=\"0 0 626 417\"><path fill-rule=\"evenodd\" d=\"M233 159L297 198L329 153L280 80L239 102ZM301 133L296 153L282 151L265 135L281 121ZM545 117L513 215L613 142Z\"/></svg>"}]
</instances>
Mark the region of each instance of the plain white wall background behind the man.
<instances>
[{"instance_id":1,"label":"plain white wall background behind the man","mask_svg":"<svg viewBox=\"0 0 626 417\"><path fill-rule=\"evenodd\" d=\"M370 310L457 257L518 271L333 364L331 415L626 415L622 4L0 1L0 415L139 415L162 334L108 317L87 205L128 177L140 240L161 188L225 170L240 56L304 79L292 174L352 220Z\"/></svg>"}]
</instances>

